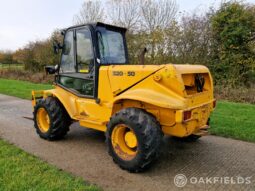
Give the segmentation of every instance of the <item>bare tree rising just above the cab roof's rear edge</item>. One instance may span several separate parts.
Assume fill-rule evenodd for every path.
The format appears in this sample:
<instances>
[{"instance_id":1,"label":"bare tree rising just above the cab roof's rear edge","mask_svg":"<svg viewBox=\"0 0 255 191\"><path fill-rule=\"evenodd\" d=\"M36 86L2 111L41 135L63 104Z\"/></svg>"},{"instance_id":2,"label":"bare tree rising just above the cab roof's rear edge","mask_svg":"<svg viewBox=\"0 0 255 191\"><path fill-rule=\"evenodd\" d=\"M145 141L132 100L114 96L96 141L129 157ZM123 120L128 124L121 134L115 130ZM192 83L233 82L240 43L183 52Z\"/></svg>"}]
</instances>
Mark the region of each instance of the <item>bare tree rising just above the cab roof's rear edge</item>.
<instances>
[{"instance_id":1,"label":"bare tree rising just above the cab roof's rear edge","mask_svg":"<svg viewBox=\"0 0 255 191\"><path fill-rule=\"evenodd\" d=\"M141 20L140 2L141 0L110 0L108 13L110 19L116 25L130 30L137 29Z\"/></svg>"}]
</instances>

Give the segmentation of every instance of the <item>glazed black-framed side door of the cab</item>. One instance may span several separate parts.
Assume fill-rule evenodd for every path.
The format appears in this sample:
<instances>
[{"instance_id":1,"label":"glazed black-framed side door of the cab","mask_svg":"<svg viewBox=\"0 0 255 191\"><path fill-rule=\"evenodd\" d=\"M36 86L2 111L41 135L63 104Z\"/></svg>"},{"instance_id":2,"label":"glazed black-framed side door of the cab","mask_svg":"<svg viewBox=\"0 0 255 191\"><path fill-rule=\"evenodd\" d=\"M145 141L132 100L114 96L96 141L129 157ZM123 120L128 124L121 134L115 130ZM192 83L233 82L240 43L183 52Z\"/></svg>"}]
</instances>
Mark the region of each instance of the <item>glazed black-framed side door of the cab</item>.
<instances>
[{"instance_id":1,"label":"glazed black-framed side door of the cab","mask_svg":"<svg viewBox=\"0 0 255 191\"><path fill-rule=\"evenodd\" d=\"M57 83L78 97L95 97L95 56L88 27L69 29L64 37Z\"/></svg>"}]
</instances>

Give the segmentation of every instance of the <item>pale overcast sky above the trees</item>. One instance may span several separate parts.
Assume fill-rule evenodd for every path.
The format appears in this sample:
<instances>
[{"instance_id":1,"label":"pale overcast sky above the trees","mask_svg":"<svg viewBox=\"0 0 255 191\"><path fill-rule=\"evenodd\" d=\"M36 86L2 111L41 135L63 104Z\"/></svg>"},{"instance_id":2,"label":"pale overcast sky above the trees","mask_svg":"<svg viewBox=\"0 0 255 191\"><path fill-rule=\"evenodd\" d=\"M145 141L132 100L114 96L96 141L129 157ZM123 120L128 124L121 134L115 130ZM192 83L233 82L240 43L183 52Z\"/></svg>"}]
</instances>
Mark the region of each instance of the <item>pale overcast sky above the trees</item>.
<instances>
[{"instance_id":1,"label":"pale overcast sky above the trees","mask_svg":"<svg viewBox=\"0 0 255 191\"><path fill-rule=\"evenodd\" d=\"M0 50L16 50L73 24L84 0L0 0ZM221 0L177 0L179 11L205 11ZM255 0L247 0L255 3Z\"/></svg>"}]
</instances>

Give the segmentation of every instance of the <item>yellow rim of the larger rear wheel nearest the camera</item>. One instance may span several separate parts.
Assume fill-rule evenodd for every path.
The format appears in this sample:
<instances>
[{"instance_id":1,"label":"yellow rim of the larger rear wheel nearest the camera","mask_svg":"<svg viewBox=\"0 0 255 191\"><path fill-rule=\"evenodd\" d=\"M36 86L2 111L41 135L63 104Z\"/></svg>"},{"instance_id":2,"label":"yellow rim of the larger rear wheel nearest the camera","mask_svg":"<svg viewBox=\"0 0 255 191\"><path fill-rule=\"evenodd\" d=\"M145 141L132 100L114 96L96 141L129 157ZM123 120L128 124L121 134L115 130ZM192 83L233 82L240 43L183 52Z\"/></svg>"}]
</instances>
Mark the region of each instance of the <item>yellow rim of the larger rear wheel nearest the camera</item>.
<instances>
[{"instance_id":1,"label":"yellow rim of the larger rear wheel nearest the camera","mask_svg":"<svg viewBox=\"0 0 255 191\"><path fill-rule=\"evenodd\" d=\"M111 135L115 153L123 160L132 160L137 154L138 141L132 129L124 124L114 127Z\"/></svg>"}]
</instances>

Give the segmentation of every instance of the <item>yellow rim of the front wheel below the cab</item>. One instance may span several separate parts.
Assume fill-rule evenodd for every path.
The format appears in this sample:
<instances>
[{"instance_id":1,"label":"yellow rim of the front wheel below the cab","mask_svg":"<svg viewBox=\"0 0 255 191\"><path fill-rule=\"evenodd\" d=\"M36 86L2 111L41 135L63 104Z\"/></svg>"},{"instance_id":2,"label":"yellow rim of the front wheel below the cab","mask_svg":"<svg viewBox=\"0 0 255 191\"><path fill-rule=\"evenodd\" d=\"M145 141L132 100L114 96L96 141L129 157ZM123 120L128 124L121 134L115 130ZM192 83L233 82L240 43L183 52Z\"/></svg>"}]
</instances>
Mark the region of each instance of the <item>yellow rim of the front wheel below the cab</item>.
<instances>
[{"instance_id":1,"label":"yellow rim of the front wheel below the cab","mask_svg":"<svg viewBox=\"0 0 255 191\"><path fill-rule=\"evenodd\" d=\"M50 117L44 108L40 108L36 114L36 121L39 129L46 133L50 128Z\"/></svg>"}]
</instances>

